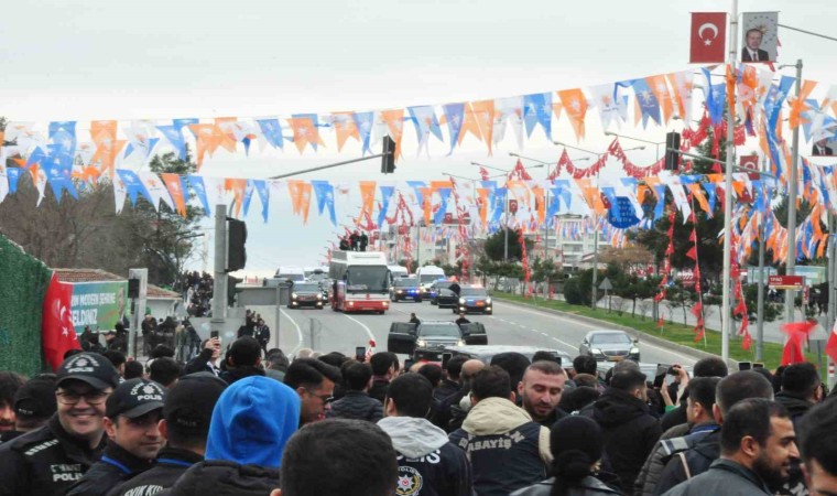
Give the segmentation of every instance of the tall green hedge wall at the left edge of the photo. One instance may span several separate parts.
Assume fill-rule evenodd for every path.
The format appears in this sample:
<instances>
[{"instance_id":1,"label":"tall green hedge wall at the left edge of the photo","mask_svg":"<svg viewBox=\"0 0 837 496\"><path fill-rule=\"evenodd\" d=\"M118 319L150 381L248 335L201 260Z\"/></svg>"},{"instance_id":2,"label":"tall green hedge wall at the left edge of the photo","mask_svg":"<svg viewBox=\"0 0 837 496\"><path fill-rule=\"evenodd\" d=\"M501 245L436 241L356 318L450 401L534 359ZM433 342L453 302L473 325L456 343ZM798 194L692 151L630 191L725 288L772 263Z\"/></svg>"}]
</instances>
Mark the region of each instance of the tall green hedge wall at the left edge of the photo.
<instances>
[{"instance_id":1,"label":"tall green hedge wall at the left edge of the photo","mask_svg":"<svg viewBox=\"0 0 837 496\"><path fill-rule=\"evenodd\" d=\"M43 370L41 314L52 271L0 235L0 370Z\"/></svg>"}]
</instances>

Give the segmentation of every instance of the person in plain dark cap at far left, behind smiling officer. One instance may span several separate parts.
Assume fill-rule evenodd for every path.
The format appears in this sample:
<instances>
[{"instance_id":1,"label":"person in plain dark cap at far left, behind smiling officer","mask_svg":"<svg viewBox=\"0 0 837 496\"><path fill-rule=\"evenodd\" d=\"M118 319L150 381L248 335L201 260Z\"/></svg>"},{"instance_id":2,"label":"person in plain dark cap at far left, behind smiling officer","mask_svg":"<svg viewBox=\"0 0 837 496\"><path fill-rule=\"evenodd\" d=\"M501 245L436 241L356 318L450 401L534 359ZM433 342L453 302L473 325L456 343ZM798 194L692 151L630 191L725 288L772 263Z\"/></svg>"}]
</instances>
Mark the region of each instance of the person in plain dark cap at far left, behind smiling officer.
<instances>
[{"instance_id":1,"label":"person in plain dark cap at far left, behind smiling officer","mask_svg":"<svg viewBox=\"0 0 837 496\"><path fill-rule=\"evenodd\" d=\"M11 441L34 431L45 424L57 409L55 376L44 374L29 379L14 393L14 430L3 432L0 441Z\"/></svg>"}]
</instances>

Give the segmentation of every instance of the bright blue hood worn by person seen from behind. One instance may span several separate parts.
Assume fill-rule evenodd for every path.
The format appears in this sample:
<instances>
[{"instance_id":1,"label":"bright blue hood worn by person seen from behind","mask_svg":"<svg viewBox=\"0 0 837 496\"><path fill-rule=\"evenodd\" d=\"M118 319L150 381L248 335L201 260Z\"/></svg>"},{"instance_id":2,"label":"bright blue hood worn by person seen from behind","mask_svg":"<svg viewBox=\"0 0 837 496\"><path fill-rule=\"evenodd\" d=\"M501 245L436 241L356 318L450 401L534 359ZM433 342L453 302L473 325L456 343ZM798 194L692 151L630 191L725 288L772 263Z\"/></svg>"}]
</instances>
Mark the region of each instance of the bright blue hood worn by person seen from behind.
<instances>
[{"instance_id":1,"label":"bright blue hood worn by person seen from behind","mask_svg":"<svg viewBox=\"0 0 837 496\"><path fill-rule=\"evenodd\" d=\"M215 405L206 460L279 468L285 443L298 424L296 391L263 376L238 380Z\"/></svg>"}]
</instances>

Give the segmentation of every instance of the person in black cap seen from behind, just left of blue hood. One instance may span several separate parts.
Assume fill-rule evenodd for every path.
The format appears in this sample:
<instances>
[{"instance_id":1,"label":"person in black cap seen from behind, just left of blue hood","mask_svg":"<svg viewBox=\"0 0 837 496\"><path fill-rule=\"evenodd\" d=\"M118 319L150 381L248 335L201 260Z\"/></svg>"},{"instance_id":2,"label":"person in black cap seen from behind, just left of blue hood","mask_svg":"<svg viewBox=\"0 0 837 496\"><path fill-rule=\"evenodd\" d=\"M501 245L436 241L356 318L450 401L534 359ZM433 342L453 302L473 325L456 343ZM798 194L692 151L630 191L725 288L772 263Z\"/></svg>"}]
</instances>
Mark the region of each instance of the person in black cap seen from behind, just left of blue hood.
<instances>
[{"instance_id":1,"label":"person in black cap seen from behind, just left of blue hood","mask_svg":"<svg viewBox=\"0 0 837 496\"><path fill-rule=\"evenodd\" d=\"M203 462L213 409L226 388L227 382L208 371L181 377L165 398L160 433L167 443L160 450L156 465L108 495L160 493L172 487L188 467Z\"/></svg>"}]
</instances>

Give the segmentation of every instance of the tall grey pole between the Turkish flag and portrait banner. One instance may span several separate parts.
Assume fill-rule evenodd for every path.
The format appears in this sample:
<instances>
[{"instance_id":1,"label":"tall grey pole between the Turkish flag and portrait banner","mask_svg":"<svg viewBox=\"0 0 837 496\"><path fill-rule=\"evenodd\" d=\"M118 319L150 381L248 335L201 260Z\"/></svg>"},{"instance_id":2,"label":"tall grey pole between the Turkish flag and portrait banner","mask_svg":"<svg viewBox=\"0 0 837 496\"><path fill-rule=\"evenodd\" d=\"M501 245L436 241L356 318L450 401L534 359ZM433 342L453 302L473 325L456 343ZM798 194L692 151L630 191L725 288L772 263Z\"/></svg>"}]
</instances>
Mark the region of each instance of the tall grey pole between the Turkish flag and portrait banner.
<instances>
[{"instance_id":1,"label":"tall grey pole between the Turkish flag and portrait banner","mask_svg":"<svg viewBox=\"0 0 837 496\"><path fill-rule=\"evenodd\" d=\"M736 62L738 58L738 0L732 0L732 13L729 21L729 65L731 73L735 75L737 69ZM729 331L732 324L729 302L732 261L732 166L735 160L733 154L736 151L736 123L732 119L736 108L735 98L727 101L727 163L724 174L724 304L721 310L721 358L725 363L729 362Z\"/></svg>"}]
</instances>

